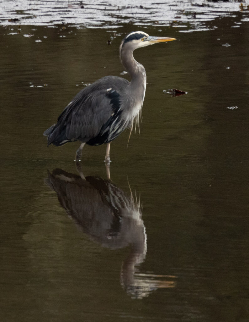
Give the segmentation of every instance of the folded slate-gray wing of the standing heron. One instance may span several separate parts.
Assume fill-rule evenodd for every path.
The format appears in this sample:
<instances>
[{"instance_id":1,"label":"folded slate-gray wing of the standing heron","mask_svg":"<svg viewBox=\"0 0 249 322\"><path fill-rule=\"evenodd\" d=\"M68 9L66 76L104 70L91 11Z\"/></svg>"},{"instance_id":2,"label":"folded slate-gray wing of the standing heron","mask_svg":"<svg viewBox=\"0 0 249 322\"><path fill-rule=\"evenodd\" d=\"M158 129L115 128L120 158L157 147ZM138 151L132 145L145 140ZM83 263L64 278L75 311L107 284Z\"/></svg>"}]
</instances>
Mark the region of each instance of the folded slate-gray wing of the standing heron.
<instances>
[{"instance_id":1,"label":"folded slate-gray wing of the standing heron","mask_svg":"<svg viewBox=\"0 0 249 322\"><path fill-rule=\"evenodd\" d=\"M87 142L96 137L120 108L120 93L128 84L121 77L107 76L81 90L60 114L57 124L44 132L48 135L48 145L59 146L75 140Z\"/></svg>"}]
</instances>

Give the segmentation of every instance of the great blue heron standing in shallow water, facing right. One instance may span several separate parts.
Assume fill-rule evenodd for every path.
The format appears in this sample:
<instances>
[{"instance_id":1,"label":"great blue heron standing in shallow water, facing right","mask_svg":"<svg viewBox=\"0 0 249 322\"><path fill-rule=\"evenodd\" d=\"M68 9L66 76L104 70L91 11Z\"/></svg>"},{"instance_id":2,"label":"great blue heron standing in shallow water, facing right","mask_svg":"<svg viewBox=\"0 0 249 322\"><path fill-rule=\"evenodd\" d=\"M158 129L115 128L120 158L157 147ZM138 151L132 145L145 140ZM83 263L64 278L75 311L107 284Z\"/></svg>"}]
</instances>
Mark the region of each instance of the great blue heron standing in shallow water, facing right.
<instances>
[{"instance_id":1,"label":"great blue heron standing in shallow water, facing right","mask_svg":"<svg viewBox=\"0 0 249 322\"><path fill-rule=\"evenodd\" d=\"M127 81L117 76L106 76L81 90L58 117L57 123L48 128L48 146L61 146L67 142L81 141L76 151L80 160L86 144L106 143L105 161L110 162L110 144L126 128L132 130L134 121L139 127L139 114L146 90L144 67L135 61L133 51L175 38L151 37L137 31L129 33L120 44L120 60L131 77Z\"/></svg>"}]
</instances>

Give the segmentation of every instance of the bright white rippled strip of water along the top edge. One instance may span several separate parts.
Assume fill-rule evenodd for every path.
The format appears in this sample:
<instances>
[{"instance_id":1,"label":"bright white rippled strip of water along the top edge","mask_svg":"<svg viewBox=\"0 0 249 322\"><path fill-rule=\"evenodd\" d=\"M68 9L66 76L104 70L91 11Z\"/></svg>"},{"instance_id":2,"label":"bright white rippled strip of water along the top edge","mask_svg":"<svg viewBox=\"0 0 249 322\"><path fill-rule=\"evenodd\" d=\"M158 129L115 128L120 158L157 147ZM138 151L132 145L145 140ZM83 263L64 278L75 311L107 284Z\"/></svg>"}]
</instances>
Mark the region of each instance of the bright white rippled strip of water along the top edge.
<instances>
[{"instance_id":1,"label":"bright white rippled strip of water along the top edge","mask_svg":"<svg viewBox=\"0 0 249 322\"><path fill-rule=\"evenodd\" d=\"M134 2L127 0L98 1L89 3L74 0L36 1L5 0L0 2L0 24L44 25L54 27L64 23L77 28L120 28L132 22L134 25L178 27L183 32L217 29L212 21L220 17L236 17L248 21L248 3L237 1L176 0ZM210 23L210 24L209 24ZM240 21L234 19L233 27ZM136 28L135 28L136 29ZM115 31L114 31L115 33Z\"/></svg>"}]
</instances>

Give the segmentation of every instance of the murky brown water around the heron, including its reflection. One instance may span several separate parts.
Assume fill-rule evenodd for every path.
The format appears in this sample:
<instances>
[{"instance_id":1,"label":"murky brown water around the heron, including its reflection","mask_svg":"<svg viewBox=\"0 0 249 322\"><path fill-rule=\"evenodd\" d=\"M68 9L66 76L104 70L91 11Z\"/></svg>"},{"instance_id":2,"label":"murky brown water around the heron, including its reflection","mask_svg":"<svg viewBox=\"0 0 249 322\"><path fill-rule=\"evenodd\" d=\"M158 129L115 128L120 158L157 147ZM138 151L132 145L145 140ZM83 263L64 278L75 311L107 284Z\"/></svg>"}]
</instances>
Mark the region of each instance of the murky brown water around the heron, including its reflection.
<instances>
[{"instance_id":1,"label":"murky brown water around the heron, including its reflection","mask_svg":"<svg viewBox=\"0 0 249 322\"><path fill-rule=\"evenodd\" d=\"M76 2L35 1L37 13L10 3L0 16L1 321L248 321L248 11L205 2L202 14L223 14L185 15L192 32L182 33L176 18L155 23L146 1L146 21L107 3L108 19L130 10L112 25L95 2L88 24L61 24ZM90 28L97 10L103 22ZM177 41L134 52L147 71L141 134L111 144L111 181L105 146L84 147L80 177L78 142L47 148L42 133L87 84L129 79L118 48L133 30Z\"/></svg>"}]
</instances>

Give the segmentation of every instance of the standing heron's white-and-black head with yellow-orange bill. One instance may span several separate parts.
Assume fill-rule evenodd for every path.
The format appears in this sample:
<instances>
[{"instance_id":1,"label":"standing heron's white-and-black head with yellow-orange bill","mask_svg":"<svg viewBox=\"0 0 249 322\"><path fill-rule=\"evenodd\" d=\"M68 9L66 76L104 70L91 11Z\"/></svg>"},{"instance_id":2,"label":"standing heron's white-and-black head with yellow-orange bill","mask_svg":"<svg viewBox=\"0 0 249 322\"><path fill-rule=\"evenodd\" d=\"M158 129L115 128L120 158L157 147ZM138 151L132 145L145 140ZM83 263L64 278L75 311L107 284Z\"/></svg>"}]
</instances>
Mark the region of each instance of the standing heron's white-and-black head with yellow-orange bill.
<instances>
[{"instance_id":1,"label":"standing heron's white-and-black head with yellow-orange bill","mask_svg":"<svg viewBox=\"0 0 249 322\"><path fill-rule=\"evenodd\" d=\"M148 45L153 45L154 43L162 43L176 40L175 38L168 37L152 37L143 31L135 31L129 33L121 42L120 54L123 49L135 50L140 47L146 47Z\"/></svg>"}]
</instances>

